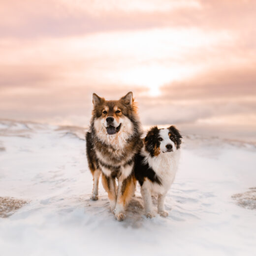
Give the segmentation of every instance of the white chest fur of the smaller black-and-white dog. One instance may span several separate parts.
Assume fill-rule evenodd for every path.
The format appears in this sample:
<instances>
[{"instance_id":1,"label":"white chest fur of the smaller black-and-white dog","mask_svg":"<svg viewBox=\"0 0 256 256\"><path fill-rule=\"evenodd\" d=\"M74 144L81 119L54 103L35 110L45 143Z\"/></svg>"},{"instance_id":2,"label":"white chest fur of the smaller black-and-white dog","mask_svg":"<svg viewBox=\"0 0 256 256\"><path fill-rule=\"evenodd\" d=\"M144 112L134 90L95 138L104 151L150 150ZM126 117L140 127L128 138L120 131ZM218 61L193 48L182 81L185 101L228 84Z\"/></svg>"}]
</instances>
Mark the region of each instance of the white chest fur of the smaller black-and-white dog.
<instances>
[{"instance_id":1,"label":"white chest fur of the smaller black-and-white dog","mask_svg":"<svg viewBox=\"0 0 256 256\"><path fill-rule=\"evenodd\" d=\"M165 194L174 181L178 163L180 159L180 150L175 152L160 153L157 157L147 156L149 166L155 171L161 181L161 185L149 181L152 192Z\"/></svg>"}]
</instances>

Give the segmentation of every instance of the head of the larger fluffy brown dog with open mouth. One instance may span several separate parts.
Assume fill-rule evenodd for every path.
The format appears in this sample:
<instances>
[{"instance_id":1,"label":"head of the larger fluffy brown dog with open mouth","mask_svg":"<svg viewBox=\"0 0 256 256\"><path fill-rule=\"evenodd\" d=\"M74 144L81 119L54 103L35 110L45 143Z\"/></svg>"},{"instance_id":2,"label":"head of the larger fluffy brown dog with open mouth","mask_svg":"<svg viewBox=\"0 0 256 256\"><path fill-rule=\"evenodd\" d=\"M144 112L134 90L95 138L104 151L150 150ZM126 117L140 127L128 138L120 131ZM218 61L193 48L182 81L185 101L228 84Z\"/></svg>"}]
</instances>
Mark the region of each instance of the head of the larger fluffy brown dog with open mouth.
<instances>
[{"instance_id":1,"label":"head of the larger fluffy brown dog with open mouth","mask_svg":"<svg viewBox=\"0 0 256 256\"><path fill-rule=\"evenodd\" d=\"M132 92L119 100L105 100L93 94L93 126L96 135L106 142L114 137L127 139L138 128L136 104Z\"/></svg>"}]
</instances>

